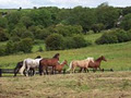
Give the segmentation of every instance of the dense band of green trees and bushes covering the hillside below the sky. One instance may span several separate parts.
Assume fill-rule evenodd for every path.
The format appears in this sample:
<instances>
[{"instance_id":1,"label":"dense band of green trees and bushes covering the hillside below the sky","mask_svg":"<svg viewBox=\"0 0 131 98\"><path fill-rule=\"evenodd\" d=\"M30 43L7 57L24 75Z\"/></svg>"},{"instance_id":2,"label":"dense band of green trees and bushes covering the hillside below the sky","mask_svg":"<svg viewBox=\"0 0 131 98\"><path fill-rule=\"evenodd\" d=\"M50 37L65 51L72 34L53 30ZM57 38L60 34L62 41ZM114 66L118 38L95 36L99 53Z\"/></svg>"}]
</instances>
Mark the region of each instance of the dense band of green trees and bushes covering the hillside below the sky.
<instances>
[{"instance_id":1,"label":"dense band of green trees and bushes covering the hillside below the sky","mask_svg":"<svg viewBox=\"0 0 131 98\"><path fill-rule=\"evenodd\" d=\"M111 28L131 28L131 7L114 8L102 3L97 8L20 8L0 15L0 41L8 40L7 46L2 46L8 54L31 52L35 39L45 40L47 50L86 47L91 42L83 35L88 30L99 33Z\"/></svg>"}]
</instances>

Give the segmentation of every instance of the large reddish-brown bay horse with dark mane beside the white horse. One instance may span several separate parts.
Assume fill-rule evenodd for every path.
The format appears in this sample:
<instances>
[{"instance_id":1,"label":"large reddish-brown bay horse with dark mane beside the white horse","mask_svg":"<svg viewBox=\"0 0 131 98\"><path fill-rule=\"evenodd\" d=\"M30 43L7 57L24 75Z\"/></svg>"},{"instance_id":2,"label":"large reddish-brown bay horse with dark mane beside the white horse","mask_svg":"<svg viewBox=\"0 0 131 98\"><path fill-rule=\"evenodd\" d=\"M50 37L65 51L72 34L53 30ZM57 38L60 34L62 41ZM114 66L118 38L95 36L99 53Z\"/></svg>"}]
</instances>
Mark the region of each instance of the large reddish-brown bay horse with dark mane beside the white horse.
<instances>
[{"instance_id":1,"label":"large reddish-brown bay horse with dark mane beside the white horse","mask_svg":"<svg viewBox=\"0 0 131 98\"><path fill-rule=\"evenodd\" d=\"M45 74L46 70L46 74L48 74L48 66L52 66L52 74L55 71L55 68L57 64L59 64L59 53L56 53L52 58L50 59L41 59L39 61L39 75L41 75L43 73Z\"/></svg>"}]
</instances>

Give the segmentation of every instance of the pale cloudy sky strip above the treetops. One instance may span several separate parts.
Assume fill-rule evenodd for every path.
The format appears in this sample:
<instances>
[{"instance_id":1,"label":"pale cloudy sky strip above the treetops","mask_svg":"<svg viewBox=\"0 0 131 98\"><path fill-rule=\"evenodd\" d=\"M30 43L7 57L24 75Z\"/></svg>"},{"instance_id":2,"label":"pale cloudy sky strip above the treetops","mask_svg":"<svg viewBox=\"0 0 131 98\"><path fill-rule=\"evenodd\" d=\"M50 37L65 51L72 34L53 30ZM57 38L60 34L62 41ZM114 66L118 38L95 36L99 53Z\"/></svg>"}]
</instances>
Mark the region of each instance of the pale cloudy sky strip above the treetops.
<instances>
[{"instance_id":1,"label":"pale cloudy sky strip above the treetops","mask_svg":"<svg viewBox=\"0 0 131 98\"><path fill-rule=\"evenodd\" d=\"M76 5L96 8L103 2L112 7L131 7L131 0L0 0L0 9L23 9L33 7L73 8Z\"/></svg>"}]
</instances>

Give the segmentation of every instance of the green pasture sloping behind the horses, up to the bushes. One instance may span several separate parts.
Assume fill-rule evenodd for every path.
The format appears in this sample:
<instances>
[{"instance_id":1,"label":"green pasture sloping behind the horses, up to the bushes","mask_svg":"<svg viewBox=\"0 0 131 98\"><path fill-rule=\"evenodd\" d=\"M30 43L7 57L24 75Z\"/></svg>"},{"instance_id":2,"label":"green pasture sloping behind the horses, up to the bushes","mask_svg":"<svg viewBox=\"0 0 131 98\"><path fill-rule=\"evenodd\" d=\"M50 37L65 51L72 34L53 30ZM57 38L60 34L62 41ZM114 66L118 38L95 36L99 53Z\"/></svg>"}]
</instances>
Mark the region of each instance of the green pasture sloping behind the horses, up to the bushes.
<instances>
[{"instance_id":1,"label":"green pasture sloping behind the horses, up to the bushes","mask_svg":"<svg viewBox=\"0 0 131 98\"><path fill-rule=\"evenodd\" d=\"M102 34L92 34L85 36L85 38L94 41L100 35ZM44 48L43 52L38 52L39 47ZM68 63L70 63L72 60L83 60L87 57L94 57L97 59L100 56L105 56L108 61L102 62L102 68L114 69L115 71L131 70L131 41L112 45L94 44L86 48L56 51L46 51L44 45L39 44L34 46L32 53L19 53L0 57L0 68L14 69L19 61L22 61L26 58L35 58L37 56L41 56L43 58L51 58L57 52L60 53L60 62L68 60Z\"/></svg>"}]
</instances>

